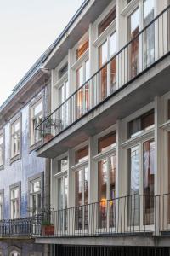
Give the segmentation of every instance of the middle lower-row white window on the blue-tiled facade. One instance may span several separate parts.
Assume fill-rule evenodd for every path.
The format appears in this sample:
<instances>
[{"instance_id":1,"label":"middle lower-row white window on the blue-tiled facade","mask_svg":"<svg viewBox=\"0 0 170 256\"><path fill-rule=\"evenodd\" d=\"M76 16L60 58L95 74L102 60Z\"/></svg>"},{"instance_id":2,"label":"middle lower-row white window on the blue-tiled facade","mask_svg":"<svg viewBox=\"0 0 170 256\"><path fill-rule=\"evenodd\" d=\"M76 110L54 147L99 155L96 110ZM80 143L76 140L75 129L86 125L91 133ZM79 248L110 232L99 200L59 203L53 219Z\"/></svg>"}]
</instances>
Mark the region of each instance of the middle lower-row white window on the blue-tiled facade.
<instances>
[{"instance_id":1,"label":"middle lower-row white window on the blue-tiled facade","mask_svg":"<svg viewBox=\"0 0 170 256\"><path fill-rule=\"evenodd\" d=\"M11 218L20 218L20 189L10 190Z\"/></svg>"}]
</instances>

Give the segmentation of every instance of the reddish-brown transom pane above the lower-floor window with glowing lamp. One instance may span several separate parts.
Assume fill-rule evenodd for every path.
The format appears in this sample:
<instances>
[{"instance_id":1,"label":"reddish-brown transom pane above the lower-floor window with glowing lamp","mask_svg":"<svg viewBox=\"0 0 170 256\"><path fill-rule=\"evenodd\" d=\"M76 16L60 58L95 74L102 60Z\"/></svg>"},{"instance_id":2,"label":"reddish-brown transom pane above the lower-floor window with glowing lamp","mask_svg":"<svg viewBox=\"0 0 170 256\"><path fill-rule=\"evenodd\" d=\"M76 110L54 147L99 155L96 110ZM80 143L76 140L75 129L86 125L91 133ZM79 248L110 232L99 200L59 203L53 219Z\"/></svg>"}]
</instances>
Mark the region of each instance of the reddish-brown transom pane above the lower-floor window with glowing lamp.
<instances>
[{"instance_id":1,"label":"reddish-brown transom pane above the lower-floor window with glowing lamp","mask_svg":"<svg viewBox=\"0 0 170 256\"><path fill-rule=\"evenodd\" d=\"M105 151L114 146L116 143L116 132L106 135L105 137L99 138L98 152Z\"/></svg>"}]
</instances>

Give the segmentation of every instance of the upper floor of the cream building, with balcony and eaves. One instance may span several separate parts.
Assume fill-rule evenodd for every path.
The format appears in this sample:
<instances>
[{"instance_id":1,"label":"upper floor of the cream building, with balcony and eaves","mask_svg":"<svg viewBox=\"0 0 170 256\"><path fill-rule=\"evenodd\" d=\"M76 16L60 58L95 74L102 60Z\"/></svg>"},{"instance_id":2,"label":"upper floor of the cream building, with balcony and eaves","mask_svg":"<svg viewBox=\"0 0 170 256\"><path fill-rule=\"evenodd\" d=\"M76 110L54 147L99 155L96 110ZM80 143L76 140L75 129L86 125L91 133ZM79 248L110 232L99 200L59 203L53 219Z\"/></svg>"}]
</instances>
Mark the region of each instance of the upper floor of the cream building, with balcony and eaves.
<instances>
[{"instance_id":1,"label":"upper floor of the cream building, with balcony and eaves","mask_svg":"<svg viewBox=\"0 0 170 256\"><path fill-rule=\"evenodd\" d=\"M37 127L40 156L61 154L167 91L168 1L85 3L44 62L54 111Z\"/></svg>"}]
</instances>

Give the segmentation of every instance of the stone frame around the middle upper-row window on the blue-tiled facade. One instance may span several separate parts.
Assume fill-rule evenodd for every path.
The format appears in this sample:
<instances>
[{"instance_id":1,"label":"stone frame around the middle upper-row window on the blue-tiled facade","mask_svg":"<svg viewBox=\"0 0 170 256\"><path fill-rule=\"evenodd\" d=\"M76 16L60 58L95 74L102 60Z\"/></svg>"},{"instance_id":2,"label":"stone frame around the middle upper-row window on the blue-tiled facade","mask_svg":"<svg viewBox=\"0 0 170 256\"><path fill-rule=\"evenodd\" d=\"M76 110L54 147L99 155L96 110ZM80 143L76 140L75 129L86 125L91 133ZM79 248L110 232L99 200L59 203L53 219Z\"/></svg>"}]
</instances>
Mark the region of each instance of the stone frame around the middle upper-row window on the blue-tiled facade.
<instances>
[{"instance_id":1,"label":"stone frame around the middle upper-row window on the blue-tiled facade","mask_svg":"<svg viewBox=\"0 0 170 256\"><path fill-rule=\"evenodd\" d=\"M13 127L14 124L19 121L19 125L20 125L20 131L19 131L19 135L20 135L20 148L19 151L17 152L17 154L13 155L13 150L14 150L14 139L12 139L13 136ZM22 113L16 115L14 117L14 119L11 120L10 122L10 164L12 164L14 161L19 160L21 158L21 148L22 148Z\"/></svg>"}]
</instances>

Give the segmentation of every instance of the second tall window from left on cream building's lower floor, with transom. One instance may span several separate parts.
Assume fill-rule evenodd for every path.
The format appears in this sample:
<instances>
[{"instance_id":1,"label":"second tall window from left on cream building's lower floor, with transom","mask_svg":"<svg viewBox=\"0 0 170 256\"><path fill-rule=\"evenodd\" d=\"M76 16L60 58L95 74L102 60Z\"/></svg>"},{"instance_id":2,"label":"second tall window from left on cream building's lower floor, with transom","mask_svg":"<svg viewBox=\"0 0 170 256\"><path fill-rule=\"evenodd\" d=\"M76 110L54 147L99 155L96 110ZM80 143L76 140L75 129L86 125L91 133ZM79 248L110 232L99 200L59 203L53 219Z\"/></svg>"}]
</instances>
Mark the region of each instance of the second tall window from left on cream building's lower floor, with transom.
<instances>
[{"instance_id":1,"label":"second tall window from left on cream building's lower floor, with transom","mask_svg":"<svg viewBox=\"0 0 170 256\"><path fill-rule=\"evenodd\" d=\"M77 150L76 163L84 164L75 173L76 229L88 228L88 146Z\"/></svg>"}]
</instances>

